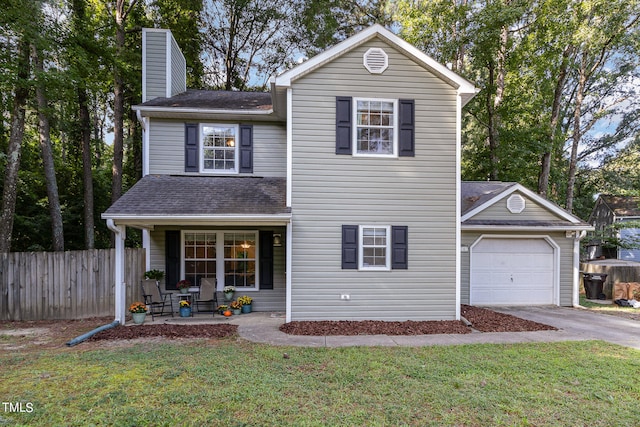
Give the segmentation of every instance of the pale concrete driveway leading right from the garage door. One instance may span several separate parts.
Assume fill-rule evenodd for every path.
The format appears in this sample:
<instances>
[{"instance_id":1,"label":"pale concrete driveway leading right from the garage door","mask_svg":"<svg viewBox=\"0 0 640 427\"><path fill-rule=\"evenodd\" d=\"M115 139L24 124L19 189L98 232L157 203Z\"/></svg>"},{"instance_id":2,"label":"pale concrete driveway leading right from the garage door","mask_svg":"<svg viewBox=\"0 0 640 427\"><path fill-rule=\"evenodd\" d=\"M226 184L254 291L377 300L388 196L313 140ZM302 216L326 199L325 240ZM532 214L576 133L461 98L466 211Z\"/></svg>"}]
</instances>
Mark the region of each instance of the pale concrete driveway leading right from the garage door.
<instances>
[{"instance_id":1,"label":"pale concrete driveway leading right from the garage door","mask_svg":"<svg viewBox=\"0 0 640 427\"><path fill-rule=\"evenodd\" d=\"M603 340L640 349L640 322L580 308L556 306L487 307L559 329L563 340Z\"/></svg>"}]
</instances>

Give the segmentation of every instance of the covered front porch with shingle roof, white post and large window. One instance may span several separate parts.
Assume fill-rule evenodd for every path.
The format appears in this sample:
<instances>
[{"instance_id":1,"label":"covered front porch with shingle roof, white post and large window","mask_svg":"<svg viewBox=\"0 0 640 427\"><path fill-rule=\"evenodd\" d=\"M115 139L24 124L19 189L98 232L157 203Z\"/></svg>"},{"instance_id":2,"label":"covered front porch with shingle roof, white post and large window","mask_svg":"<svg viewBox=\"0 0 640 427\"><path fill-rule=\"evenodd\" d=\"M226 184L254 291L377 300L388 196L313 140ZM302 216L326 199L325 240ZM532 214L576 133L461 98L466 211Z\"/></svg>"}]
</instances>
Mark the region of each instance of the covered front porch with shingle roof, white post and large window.
<instances>
[{"instance_id":1,"label":"covered front porch with shingle roof, white post and large window","mask_svg":"<svg viewBox=\"0 0 640 427\"><path fill-rule=\"evenodd\" d=\"M124 323L126 227L143 230L146 270L165 273L162 292L177 310L177 283L215 286L218 304L226 286L253 298L254 311L284 312L290 209L285 180L254 177L146 176L102 217L116 236L116 320ZM140 278L141 280L143 277ZM208 316L213 306L207 307ZM204 313L202 313L204 314ZM216 315L217 316L217 315ZM170 317L170 316L169 316Z\"/></svg>"}]
</instances>

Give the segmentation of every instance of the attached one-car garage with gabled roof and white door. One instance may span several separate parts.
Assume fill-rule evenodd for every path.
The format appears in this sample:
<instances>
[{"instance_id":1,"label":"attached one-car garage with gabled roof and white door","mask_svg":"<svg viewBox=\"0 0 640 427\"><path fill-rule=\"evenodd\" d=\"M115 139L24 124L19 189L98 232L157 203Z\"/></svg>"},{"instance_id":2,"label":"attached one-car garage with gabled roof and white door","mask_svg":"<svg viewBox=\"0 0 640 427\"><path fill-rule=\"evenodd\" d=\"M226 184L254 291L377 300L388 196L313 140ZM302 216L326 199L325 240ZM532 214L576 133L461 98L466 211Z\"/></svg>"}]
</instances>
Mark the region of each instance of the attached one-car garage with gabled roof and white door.
<instances>
[{"instance_id":1,"label":"attached one-car garage with gabled roof and white door","mask_svg":"<svg viewBox=\"0 0 640 427\"><path fill-rule=\"evenodd\" d=\"M461 190L461 303L578 304L589 224L517 183L465 181Z\"/></svg>"}]
</instances>

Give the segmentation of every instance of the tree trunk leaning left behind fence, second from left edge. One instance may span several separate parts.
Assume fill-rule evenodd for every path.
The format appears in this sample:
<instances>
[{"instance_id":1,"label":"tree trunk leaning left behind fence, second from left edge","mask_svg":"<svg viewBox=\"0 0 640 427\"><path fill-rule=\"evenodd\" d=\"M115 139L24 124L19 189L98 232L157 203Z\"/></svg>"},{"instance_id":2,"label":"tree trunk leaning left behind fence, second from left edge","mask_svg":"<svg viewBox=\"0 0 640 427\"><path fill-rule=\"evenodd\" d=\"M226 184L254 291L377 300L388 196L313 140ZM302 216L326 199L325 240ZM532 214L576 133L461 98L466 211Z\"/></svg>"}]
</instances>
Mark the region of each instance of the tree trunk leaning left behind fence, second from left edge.
<instances>
[{"instance_id":1,"label":"tree trunk leaning left behind fence, second from left edge","mask_svg":"<svg viewBox=\"0 0 640 427\"><path fill-rule=\"evenodd\" d=\"M40 150L44 177L47 184L47 198L49 200L49 215L51 216L51 237L54 251L64 251L64 228L62 225L62 211L58 194L56 168L51 150L51 131L49 127L49 105L43 83L44 68L42 59L35 45L31 45L31 60L36 74L36 101L38 104L38 133L40 136Z\"/></svg>"}]
</instances>

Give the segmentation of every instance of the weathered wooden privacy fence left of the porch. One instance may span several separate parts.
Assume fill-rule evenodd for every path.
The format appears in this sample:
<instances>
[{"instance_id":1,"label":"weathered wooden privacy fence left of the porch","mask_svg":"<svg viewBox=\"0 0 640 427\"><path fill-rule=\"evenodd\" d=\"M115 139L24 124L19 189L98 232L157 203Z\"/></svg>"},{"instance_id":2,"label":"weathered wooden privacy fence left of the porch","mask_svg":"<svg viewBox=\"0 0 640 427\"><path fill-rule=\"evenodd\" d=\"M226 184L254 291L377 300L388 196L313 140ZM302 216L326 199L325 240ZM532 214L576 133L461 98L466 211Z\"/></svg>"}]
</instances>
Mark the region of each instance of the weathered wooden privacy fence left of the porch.
<instances>
[{"instance_id":1,"label":"weathered wooden privacy fence left of the porch","mask_svg":"<svg viewBox=\"0 0 640 427\"><path fill-rule=\"evenodd\" d=\"M127 304L141 301L144 249L125 249ZM0 254L0 320L115 315L115 249Z\"/></svg>"}]
</instances>

